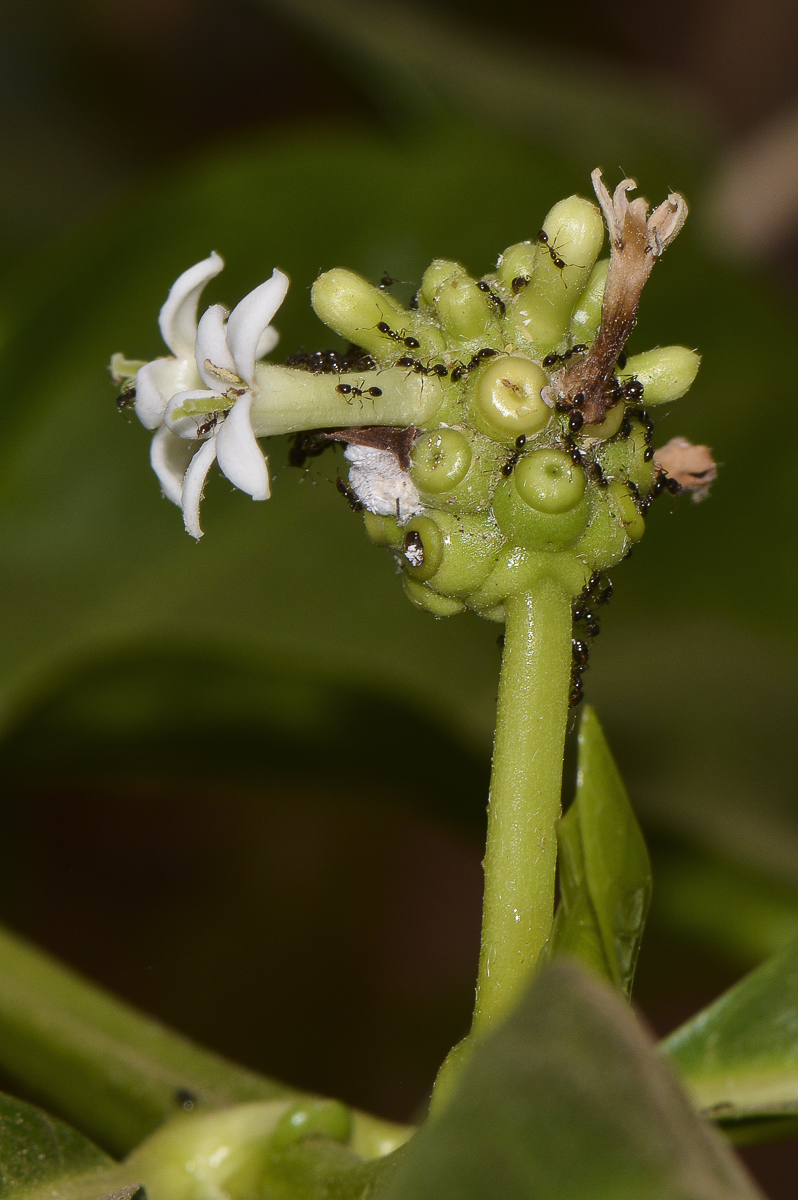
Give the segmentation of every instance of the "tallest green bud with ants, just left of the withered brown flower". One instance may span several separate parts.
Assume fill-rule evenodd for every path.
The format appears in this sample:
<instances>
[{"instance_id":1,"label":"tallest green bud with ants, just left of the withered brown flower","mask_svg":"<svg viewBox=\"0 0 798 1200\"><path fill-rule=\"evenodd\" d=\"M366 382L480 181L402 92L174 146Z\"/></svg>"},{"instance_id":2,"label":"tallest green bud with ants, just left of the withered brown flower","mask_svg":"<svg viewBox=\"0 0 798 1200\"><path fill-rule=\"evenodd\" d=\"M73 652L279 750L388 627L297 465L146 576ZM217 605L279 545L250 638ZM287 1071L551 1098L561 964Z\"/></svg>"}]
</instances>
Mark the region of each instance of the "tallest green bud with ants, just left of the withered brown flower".
<instances>
[{"instance_id":1,"label":"tallest green bud with ants, just left of the withered brown flower","mask_svg":"<svg viewBox=\"0 0 798 1200\"><path fill-rule=\"evenodd\" d=\"M536 349L559 347L604 241L604 221L578 196L560 200L544 221L529 283L512 305L516 324Z\"/></svg>"}]
</instances>

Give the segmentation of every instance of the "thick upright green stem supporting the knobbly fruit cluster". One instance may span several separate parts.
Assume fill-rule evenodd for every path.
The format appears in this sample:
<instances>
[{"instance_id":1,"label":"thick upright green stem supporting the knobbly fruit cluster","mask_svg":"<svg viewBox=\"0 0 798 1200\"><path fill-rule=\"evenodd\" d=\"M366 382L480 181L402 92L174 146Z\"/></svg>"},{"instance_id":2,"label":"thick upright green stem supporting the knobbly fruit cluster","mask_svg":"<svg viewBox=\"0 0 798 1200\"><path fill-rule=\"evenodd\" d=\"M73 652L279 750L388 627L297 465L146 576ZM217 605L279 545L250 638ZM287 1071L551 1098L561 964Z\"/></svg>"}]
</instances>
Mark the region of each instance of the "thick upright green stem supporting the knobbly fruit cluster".
<instances>
[{"instance_id":1,"label":"thick upright green stem supporting the knobbly fruit cluster","mask_svg":"<svg viewBox=\"0 0 798 1200\"><path fill-rule=\"evenodd\" d=\"M474 1031L520 998L551 932L571 601L542 578L508 599L493 745Z\"/></svg>"}]
</instances>

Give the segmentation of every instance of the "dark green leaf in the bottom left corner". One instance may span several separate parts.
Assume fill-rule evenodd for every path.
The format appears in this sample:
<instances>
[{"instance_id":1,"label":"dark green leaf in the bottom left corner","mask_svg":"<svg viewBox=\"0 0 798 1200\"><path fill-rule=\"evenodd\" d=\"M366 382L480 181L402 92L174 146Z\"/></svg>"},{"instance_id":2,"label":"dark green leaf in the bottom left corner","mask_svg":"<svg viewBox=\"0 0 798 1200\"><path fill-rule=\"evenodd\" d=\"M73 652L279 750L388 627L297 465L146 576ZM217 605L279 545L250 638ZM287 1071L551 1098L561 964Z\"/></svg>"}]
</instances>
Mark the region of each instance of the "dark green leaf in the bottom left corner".
<instances>
[{"instance_id":1,"label":"dark green leaf in the bottom left corner","mask_svg":"<svg viewBox=\"0 0 798 1200\"><path fill-rule=\"evenodd\" d=\"M102 1195L119 1169L83 1134L0 1092L0 1198ZM110 1172L110 1174L109 1174ZM130 1172L127 1181L130 1182Z\"/></svg>"}]
</instances>

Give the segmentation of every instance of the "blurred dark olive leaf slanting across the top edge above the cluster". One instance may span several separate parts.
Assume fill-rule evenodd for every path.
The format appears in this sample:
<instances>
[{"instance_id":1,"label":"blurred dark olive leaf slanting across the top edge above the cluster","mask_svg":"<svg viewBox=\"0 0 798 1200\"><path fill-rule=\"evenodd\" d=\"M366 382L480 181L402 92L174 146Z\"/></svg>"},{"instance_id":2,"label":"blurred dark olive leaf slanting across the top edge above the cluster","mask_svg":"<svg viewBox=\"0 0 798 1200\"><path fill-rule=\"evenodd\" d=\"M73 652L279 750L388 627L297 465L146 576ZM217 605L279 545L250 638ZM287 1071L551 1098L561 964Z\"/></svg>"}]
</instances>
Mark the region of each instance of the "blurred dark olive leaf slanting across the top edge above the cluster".
<instances>
[{"instance_id":1,"label":"blurred dark olive leaf slanting across the top edge above the cluster","mask_svg":"<svg viewBox=\"0 0 798 1200\"><path fill-rule=\"evenodd\" d=\"M714 134L697 96L673 85L630 79L607 62L574 52L542 34L536 46L461 12L398 0L257 0L312 36L322 53L348 70L406 120L452 112L476 124L512 130L530 143L558 148L570 161L635 163L667 173L696 163ZM631 168L629 168L631 169Z\"/></svg>"}]
</instances>

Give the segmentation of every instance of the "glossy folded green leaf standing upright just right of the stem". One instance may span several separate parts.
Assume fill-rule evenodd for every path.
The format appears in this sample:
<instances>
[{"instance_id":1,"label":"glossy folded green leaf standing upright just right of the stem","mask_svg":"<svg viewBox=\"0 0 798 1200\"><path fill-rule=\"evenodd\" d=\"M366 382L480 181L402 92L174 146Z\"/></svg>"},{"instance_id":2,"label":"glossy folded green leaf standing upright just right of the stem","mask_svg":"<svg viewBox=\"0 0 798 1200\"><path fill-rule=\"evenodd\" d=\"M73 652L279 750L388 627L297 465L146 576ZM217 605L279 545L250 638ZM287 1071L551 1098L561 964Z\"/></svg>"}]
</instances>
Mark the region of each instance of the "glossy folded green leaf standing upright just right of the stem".
<instances>
[{"instance_id":1,"label":"glossy folded green leaf standing upright just right of the stem","mask_svg":"<svg viewBox=\"0 0 798 1200\"><path fill-rule=\"evenodd\" d=\"M592 708L582 714L578 746L576 799L557 832L552 953L581 958L630 995L652 898L648 851Z\"/></svg>"}]
</instances>

